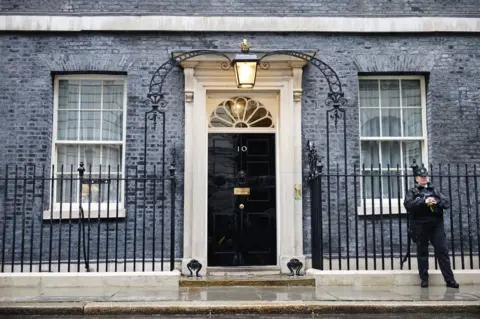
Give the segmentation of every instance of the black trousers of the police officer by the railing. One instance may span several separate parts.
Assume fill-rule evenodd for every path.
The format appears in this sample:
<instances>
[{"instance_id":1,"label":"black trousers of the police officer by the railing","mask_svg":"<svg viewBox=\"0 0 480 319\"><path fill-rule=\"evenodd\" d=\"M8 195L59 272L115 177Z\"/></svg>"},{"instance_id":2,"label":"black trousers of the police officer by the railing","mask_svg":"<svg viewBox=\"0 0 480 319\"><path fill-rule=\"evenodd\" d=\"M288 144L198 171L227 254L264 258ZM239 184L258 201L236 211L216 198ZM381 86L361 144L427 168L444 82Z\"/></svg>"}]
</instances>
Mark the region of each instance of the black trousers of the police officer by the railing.
<instances>
[{"instance_id":1,"label":"black trousers of the police officer by the railing","mask_svg":"<svg viewBox=\"0 0 480 319\"><path fill-rule=\"evenodd\" d=\"M448 257L447 237L443 220L415 223L417 237L418 272L421 280L428 280L428 242L435 249L435 256L445 281L454 280L450 259Z\"/></svg>"}]
</instances>

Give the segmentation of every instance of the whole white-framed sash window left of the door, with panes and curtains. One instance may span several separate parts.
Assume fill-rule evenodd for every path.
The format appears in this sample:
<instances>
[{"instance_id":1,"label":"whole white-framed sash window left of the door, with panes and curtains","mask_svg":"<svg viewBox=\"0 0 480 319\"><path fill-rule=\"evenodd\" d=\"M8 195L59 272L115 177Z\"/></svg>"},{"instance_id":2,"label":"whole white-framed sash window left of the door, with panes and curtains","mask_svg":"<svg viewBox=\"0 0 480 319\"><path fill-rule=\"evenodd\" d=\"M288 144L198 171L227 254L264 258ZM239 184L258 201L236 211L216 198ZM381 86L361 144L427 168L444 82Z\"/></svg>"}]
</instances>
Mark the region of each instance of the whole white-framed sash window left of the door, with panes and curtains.
<instances>
[{"instance_id":1,"label":"whole white-framed sash window left of the door, with panes and curtains","mask_svg":"<svg viewBox=\"0 0 480 319\"><path fill-rule=\"evenodd\" d=\"M123 208L126 89L126 76L55 77L52 139L54 211L61 206L63 211L69 211L71 202L78 203L80 192L85 211L89 206L90 210L96 211L95 215L108 207L111 210L109 216L114 217L117 204ZM80 186L77 171L80 162L85 165L84 177L97 181L108 179L110 183Z\"/></svg>"}]
</instances>

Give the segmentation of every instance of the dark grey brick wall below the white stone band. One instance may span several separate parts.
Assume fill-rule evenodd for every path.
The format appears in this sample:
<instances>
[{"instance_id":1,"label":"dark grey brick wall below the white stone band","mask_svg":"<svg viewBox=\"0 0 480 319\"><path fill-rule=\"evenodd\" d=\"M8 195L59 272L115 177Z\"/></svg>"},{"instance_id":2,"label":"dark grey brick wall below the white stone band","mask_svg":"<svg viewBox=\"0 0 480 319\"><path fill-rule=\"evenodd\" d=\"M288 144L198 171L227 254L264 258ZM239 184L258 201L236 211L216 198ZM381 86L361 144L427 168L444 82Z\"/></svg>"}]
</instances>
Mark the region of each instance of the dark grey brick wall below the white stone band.
<instances>
[{"instance_id":1,"label":"dark grey brick wall below the white stone band","mask_svg":"<svg viewBox=\"0 0 480 319\"><path fill-rule=\"evenodd\" d=\"M318 34L222 34L222 33L81 33L81 34L2 34L0 56L2 79L0 80L0 102L2 116L0 127L0 166L6 164L35 163L50 165L52 137L52 72L125 72L128 75L128 127L127 165L143 163L144 111L143 101L148 90L150 77L156 68L169 57L172 49L222 49L236 48L239 39L248 38L259 48L316 48L317 56L338 73L349 105L346 108L347 160L350 167L359 162L357 83L360 73L402 73L428 74L428 131L429 160L437 163L480 164L479 88L480 88L480 37L478 35L318 35ZM320 73L309 67L304 73L303 97L303 143L314 140L325 162L326 155L326 107L324 99L327 85ZM178 149L178 192L176 197L176 255L182 254L182 209L183 209L183 75L180 70L170 74L165 91L168 101L166 149L170 151L175 143ZM340 163L342 167L343 128L330 128L330 164ZM151 142L151 143L150 143ZM149 165L161 164L159 149L162 146L161 129L149 131ZM304 157L305 176L308 172ZM167 164L170 155L167 154ZM47 169L47 174L49 171ZM3 174L3 172L2 172ZM168 183L167 183L168 185ZM10 187L11 184L10 184ZM351 187L351 184L350 184ZM342 185L340 185L342 189ZM4 193L0 186L0 194ZM141 188L140 188L141 190ZM336 191L335 191L336 192ZM349 192L353 192L349 189ZM169 193L167 192L168 196ZM2 195L3 196L3 195ZM11 196L11 192L10 195ZM141 193L138 193L141 196ZM48 192L47 192L48 197ZM140 199L141 197L139 197ZM310 195L304 184L304 229L305 253L311 251L310 238ZM353 200L350 199L349 207ZM332 225L332 236L345 236L346 225L354 229L353 209L342 208L340 231L338 224ZM30 205L30 206L28 206ZM27 225L35 212L39 220L40 203L28 204ZM127 207L127 227L134 224L134 208ZM143 205L143 202L142 202ZM151 205L147 203L147 205ZM336 204L332 204L336 213ZM344 205L344 204L343 204ZM35 207L33 207L35 206ZM30 208L28 208L30 207ZM153 212L147 206L146 213L137 212L137 229L143 227L146 219L147 231L152 231ZM167 201L166 210L170 209ZM8 207L7 207L8 210ZM21 219L17 210L17 218ZM465 211L465 210L464 210ZM4 212L0 216L3 220ZM457 212L454 212L458 214ZM144 217L145 216L145 217ZM334 216L334 215L332 215ZM473 215L472 215L473 216ZM347 222L348 220L348 222ZM458 219L456 219L458 220ZM158 219L157 219L158 221ZM13 220L8 218L8 229ZM363 220L361 221L363 223ZM383 220L388 226L389 221ZM459 223L459 222L455 222ZM465 223L465 219L462 223ZM113 222L112 225L114 225ZM169 217L165 219L165 231L169 231ZM457 224L456 224L457 225ZM372 225L373 226L373 225ZM45 225L45 234L49 226ZM100 239L112 239L112 232L106 234L102 224ZM120 221L124 229L125 221ZM369 226L370 227L370 226ZM378 225L377 225L378 227ZM398 233L398 226L394 232ZM54 225L57 229L58 225ZM68 227L62 228L62 238ZM112 228L111 228L112 229ZM376 228L379 230L379 228ZM362 231L360 229L360 231ZM96 228L92 228L96 238ZM121 233L120 237L122 237ZM128 236L131 236L129 233ZM351 235L353 236L353 235ZM75 237L76 238L76 237ZM75 240L75 239L74 239ZM128 237L127 241L132 242ZM165 243L168 247L168 241ZM335 246L335 244L334 244ZM101 246L101 249L103 246ZM129 249L131 245L129 244ZM352 246L350 247L352 249ZM65 251L63 249L62 251ZM138 251L138 250L137 250ZM168 255L168 251L166 251ZM158 256L158 254L157 254Z\"/></svg>"}]
</instances>

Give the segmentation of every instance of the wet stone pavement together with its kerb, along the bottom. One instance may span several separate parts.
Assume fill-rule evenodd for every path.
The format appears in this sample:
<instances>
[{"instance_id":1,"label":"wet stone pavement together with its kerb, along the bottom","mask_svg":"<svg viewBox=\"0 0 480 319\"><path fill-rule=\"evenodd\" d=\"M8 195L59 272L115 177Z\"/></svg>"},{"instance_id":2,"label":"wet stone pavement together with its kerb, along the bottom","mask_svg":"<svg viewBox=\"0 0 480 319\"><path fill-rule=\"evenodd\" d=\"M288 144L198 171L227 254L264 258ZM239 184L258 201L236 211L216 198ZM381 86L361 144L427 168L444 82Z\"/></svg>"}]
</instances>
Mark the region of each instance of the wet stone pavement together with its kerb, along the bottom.
<instances>
[{"instance_id":1,"label":"wet stone pavement together with its kerb, along the bottom","mask_svg":"<svg viewBox=\"0 0 480 319\"><path fill-rule=\"evenodd\" d=\"M362 313L388 313L390 317L403 313L398 318L411 318L419 312L433 312L437 318L444 318L442 313L448 313L448 318L480 318L480 286L0 289L0 317L43 314L49 318L120 318L130 314L130 318L146 318L142 315L180 314L223 319L230 317L211 316L290 314L288 318L304 318L306 314L355 313L357 317Z\"/></svg>"}]
</instances>

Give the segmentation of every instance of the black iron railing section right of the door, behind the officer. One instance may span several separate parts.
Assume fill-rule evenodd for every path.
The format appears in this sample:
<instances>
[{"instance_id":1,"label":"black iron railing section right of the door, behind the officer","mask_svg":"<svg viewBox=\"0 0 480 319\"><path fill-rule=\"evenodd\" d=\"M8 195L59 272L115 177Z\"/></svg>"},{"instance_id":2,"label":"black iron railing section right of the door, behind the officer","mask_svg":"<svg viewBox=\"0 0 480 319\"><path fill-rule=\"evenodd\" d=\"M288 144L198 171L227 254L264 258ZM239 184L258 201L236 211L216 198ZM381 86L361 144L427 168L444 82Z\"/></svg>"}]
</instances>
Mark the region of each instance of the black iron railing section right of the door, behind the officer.
<instances>
[{"instance_id":1,"label":"black iron railing section right of the door, behind the officer","mask_svg":"<svg viewBox=\"0 0 480 319\"><path fill-rule=\"evenodd\" d=\"M414 186L410 168L354 166L345 170L314 164L317 171L309 182L313 267L400 269L400 260L406 256L412 269L416 245L410 242L409 214L403 206L406 190ZM479 269L480 176L476 165L431 165L429 170L432 184L451 204L444 212L444 224L453 268ZM433 248L431 253L433 257ZM431 267L437 268L436 260L434 264Z\"/></svg>"}]
</instances>

